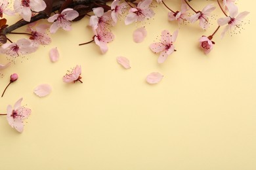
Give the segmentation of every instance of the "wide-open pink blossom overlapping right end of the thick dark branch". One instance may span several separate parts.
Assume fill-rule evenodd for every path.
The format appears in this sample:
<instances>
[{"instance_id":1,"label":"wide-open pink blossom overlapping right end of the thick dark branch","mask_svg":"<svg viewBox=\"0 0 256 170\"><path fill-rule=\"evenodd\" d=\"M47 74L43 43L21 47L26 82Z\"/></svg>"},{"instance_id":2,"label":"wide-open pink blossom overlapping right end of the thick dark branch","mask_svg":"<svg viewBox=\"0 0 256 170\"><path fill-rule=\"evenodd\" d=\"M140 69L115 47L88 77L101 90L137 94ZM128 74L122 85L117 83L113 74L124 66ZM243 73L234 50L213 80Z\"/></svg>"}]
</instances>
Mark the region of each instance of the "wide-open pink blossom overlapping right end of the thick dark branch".
<instances>
[{"instance_id":1,"label":"wide-open pink blossom overlapping right end of the thick dark branch","mask_svg":"<svg viewBox=\"0 0 256 170\"><path fill-rule=\"evenodd\" d=\"M53 22L50 27L50 33L56 33L59 28L65 31L72 29L70 21L74 20L79 16L78 12L74 9L64 9L60 14L54 14L48 18L48 22Z\"/></svg>"}]
</instances>

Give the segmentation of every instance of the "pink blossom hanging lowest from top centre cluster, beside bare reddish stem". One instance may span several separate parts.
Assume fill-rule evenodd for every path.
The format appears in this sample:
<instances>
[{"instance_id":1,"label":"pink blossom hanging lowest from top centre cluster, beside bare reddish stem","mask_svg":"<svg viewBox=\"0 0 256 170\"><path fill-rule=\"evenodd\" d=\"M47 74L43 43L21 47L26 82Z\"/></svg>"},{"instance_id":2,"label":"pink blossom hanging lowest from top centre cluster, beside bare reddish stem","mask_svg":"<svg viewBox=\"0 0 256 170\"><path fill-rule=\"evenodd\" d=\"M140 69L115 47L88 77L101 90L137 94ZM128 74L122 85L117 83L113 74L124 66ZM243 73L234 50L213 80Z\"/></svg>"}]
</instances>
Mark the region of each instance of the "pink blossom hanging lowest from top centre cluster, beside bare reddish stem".
<instances>
[{"instance_id":1,"label":"pink blossom hanging lowest from top centre cluster, beside bare reddish stem","mask_svg":"<svg viewBox=\"0 0 256 170\"><path fill-rule=\"evenodd\" d=\"M114 40L114 34L108 31L101 31L100 29L95 30L94 41L100 47L102 54L108 51L108 42Z\"/></svg>"}]
</instances>

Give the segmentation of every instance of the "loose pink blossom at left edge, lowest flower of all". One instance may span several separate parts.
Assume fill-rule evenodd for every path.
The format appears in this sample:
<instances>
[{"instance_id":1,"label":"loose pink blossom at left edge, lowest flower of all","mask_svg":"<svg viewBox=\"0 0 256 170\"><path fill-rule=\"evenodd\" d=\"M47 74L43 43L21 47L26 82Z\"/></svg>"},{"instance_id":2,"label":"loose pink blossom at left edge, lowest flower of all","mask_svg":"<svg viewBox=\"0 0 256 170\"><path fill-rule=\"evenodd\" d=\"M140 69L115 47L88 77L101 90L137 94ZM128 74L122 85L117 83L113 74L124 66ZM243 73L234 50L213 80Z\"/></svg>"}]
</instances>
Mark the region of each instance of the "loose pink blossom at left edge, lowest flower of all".
<instances>
[{"instance_id":1,"label":"loose pink blossom at left edge, lowest flower of all","mask_svg":"<svg viewBox=\"0 0 256 170\"><path fill-rule=\"evenodd\" d=\"M19 99L12 109L11 105L7 107L7 121L9 125L22 133L24 129L24 119L30 116L31 110L21 105L22 98Z\"/></svg>"}]
</instances>

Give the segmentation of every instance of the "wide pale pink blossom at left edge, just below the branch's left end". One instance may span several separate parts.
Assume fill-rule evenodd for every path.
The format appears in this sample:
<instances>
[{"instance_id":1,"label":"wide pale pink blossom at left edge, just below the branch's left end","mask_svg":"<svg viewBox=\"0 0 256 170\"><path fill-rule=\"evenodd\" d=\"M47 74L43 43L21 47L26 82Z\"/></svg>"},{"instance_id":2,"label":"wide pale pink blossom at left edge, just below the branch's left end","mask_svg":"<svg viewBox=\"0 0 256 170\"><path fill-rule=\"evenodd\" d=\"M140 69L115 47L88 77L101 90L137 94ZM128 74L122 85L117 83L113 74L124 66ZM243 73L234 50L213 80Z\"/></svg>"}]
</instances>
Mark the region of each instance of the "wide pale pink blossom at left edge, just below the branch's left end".
<instances>
[{"instance_id":1,"label":"wide pale pink blossom at left edge, just below the branch's left end","mask_svg":"<svg viewBox=\"0 0 256 170\"><path fill-rule=\"evenodd\" d=\"M18 56L30 54L37 50L37 46L33 46L28 39L20 39L17 42L5 43L2 45L4 54L16 58Z\"/></svg>"}]
</instances>

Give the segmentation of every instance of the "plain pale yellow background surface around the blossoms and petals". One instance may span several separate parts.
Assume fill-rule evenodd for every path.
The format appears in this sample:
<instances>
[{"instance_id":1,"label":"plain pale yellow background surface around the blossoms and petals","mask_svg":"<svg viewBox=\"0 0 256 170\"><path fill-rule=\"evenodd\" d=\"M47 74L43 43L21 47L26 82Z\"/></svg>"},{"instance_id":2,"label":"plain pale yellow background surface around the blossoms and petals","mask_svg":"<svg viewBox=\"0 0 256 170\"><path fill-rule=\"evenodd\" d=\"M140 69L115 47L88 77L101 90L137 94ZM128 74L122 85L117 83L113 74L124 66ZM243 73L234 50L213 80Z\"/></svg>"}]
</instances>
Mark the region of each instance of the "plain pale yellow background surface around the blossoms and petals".
<instances>
[{"instance_id":1,"label":"plain pale yellow background surface around the blossoms and petals","mask_svg":"<svg viewBox=\"0 0 256 170\"><path fill-rule=\"evenodd\" d=\"M198 48L202 35L217 27L212 20L207 31L198 22L179 25L167 22L167 9L154 7L156 16L143 24L119 22L112 32L116 39L100 54L91 40L93 33L84 18L73 30L51 35L53 42L37 52L17 59L0 78L1 90L9 75L18 73L0 99L0 112L24 97L32 109L23 133L0 117L0 169L133 169L133 170L255 170L256 169L256 59L255 3L238 1L240 12L248 10L241 34L220 38L205 56ZM169 7L179 9L177 1ZM215 1L192 1L202 9ZM214 12L222 17L217 8ZM11 24L11 22L9 23ZM132 33L144 25L145 41L136 44ZM22 31L22 28L18 31ZM175 48L163 64L149 49L163 29L179 29ZM24 37L24 36L20 36ZM10 35L16 40L17 35ZM49 50L58 47L60 59L51 63ZM116 62L125 56L131 69ZM0 63L6 59L1 55ZM83 84L65 84L66 70L81 65ZM146 75L164 75L150 85ZM53 92L43 98L33 94L35 86L47 83Z\"/></svg>"}]
</instances>

